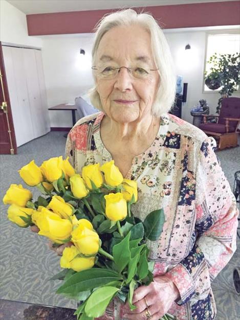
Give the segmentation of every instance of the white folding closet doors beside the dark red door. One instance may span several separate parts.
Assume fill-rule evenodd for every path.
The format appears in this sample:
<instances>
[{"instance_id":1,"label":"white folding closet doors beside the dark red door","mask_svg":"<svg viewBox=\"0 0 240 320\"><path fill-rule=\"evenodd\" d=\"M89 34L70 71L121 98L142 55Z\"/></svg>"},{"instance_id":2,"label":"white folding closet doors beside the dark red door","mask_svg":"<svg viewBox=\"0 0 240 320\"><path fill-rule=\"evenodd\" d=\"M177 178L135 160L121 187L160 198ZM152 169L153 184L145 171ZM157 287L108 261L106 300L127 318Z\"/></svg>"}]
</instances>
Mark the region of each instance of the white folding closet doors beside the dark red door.
<instances>
[{"instance_id":1,"label":"white folding closet doors beside the dark red door","mask_svg":"<svg viewBox=\"0 0 240 320\"><path fill-rule=\"evenodd\" d=\"M17 146L50 131L41 52L3 46Z\"/></svg>"}]
</instances>

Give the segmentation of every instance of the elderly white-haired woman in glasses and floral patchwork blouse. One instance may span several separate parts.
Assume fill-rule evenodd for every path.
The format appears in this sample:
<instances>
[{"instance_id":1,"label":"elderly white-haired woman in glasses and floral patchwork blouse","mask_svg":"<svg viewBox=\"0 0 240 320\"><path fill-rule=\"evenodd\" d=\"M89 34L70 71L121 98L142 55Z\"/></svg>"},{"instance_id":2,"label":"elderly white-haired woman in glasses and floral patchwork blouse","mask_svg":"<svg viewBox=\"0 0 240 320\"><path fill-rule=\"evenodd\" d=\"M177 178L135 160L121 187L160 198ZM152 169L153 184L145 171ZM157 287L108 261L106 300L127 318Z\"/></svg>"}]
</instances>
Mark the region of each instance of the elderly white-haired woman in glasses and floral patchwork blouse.
<instances>
[{"instance_id":1,"label":"elderly white-haired woman in glasses and floral patchwork blouse","mask_svg":"<svg viewBox=\"0 0 240 320\"><path fill-rule=\"evenodd\" d=\"M114 160L137 180L134 215L164 209L158 241L148 242L154 282L135 290L130 312L116 300L100 319L214 319L211 281L235 251L237 209L214 153L215 141L170 115L176 76L155 19L132 9L105 16L93 47L93 105L101 110L70 131L66 155L78 172ZM62 246L64 247L64 246Z\"/></svg>"}]
</instances>

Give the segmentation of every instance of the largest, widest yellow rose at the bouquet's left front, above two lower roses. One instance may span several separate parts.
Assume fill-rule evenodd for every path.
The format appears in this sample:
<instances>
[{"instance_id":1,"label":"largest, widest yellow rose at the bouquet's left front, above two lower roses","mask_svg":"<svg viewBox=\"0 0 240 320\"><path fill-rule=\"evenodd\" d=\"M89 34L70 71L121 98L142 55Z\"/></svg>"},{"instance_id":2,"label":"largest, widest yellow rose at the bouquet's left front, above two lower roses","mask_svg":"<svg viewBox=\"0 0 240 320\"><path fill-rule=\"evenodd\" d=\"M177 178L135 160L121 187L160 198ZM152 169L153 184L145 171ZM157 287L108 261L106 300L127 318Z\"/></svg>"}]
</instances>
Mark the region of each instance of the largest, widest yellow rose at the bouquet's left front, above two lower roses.
<instances>
[{"instance_id":1,"label":"largest, widest yellow rose at the bouquet's left front, above two lower roses","mask_svg":"<svg viewBox=\"0 0 240 320\"><path fill-rule=\"evenodd\" d=\"M39 235L48 237L56 243L64 243L71 237L73 229L69 219L61 219L56 213L42 208L32 214L32 221L38 226Z\"/></svg>"}]
</instances>

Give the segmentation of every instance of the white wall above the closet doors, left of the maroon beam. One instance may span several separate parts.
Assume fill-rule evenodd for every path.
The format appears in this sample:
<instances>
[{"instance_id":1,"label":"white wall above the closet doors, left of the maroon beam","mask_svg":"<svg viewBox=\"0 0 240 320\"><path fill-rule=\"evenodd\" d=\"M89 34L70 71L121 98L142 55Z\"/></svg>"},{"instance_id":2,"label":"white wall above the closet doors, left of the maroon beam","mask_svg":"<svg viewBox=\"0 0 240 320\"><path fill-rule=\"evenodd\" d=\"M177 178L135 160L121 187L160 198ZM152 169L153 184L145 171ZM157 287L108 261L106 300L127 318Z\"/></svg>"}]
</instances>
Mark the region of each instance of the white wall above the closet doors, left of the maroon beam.
<instances>
[{"instance_id":1,"label":"white wall above the closet doors, left of the maroon beam","mask_svg":"<svg viewBox=\"0 0 240 320\"><path fill-rule=\"evenodd\" d=\"M41 48L41 38L28 35L26 14L0 1L0 41Z\"/></svg>"}]
</instances>

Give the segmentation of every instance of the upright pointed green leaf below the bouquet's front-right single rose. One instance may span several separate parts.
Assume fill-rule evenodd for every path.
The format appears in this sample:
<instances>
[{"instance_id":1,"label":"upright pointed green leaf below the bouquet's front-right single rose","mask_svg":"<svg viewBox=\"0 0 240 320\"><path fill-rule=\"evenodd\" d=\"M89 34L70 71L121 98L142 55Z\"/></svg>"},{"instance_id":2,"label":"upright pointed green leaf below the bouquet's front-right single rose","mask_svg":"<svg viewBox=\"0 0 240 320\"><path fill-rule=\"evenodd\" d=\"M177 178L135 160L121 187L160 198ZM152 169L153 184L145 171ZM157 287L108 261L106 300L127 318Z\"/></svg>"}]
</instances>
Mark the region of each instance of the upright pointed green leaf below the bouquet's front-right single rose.
<instances>
[{"instance_id":1,"label":"upright pointed green leaf below the bouquet's front-right single rose","mask_svg":"<svg viewBox=\"0 0 240 320\"><path fill-rule=\"evenodd\" d=\"M125 268L130 260L129 238L131 232L113 247L113 258L119 272Z\"/></svg>"}]
</instances>

